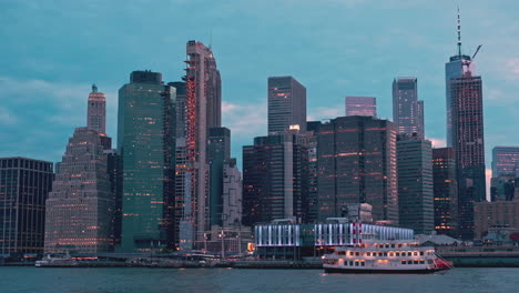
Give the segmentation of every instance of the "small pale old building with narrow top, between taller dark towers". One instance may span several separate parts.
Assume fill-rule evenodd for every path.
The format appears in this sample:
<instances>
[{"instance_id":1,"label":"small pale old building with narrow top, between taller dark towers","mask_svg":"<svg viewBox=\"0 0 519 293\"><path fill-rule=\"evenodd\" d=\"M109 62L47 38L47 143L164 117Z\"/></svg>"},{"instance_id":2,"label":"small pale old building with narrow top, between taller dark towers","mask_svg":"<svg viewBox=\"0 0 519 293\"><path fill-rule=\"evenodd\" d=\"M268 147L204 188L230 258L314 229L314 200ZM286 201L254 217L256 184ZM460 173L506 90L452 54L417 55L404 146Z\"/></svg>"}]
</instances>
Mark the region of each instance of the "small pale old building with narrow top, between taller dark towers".
<instances>
[{"instance_id":1,"label":"small pale old building with narrow top, between taller dark towers","mask_svg":"<svg viewBox=\"0 0 519 293\"><path fill-rule=\"evenodd\" d=\"M223 226L242 224L242 173L233 158L223 166Z\"/></svg>"}]
</instances>

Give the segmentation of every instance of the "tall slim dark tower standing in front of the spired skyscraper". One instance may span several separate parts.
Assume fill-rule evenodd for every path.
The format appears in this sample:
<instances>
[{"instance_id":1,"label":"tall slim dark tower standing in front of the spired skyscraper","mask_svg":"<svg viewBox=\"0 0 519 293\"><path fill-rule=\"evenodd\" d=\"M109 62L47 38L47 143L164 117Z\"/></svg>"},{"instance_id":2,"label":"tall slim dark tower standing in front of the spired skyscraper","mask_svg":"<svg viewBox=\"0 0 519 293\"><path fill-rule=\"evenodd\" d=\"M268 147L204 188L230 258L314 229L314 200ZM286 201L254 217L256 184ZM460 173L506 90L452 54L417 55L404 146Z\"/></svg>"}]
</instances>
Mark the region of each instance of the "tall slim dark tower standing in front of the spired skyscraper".
<instances>
[{"instance_id":1,"label":"tall slim dark tower standing in front of the spired skyscraper","mask_svg":"<svg viewBox=\"0 0 519 293\"><path fill-rule=\"evenodd\" d=\"M474 202L486 200L481 78L468 71L450 80L452 143L458 176L461 239L474 236Z\"/></svg>"}]
</instances>

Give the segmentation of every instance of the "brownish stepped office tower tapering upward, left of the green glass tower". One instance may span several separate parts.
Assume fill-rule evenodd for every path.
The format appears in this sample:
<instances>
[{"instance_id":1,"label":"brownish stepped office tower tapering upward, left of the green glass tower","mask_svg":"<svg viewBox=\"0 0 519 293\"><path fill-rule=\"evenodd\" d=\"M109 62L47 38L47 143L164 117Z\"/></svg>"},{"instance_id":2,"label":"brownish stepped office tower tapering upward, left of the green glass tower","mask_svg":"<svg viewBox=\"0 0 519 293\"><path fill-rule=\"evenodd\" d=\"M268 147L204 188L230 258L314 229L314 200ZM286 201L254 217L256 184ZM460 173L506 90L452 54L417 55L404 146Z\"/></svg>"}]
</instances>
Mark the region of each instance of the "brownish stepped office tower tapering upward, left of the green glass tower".
<instances>
[{"instance_id":1,"label":"brownish stepped office tower tapering upward, left of the green glass tower","mask_svg":"<svg viewBox=\"0 0 519 293\"><path fill-rule=\"evenodd\" d=\"M77 128L47 200L45 252L113 249L114 194L98 132Z\"/></svg>"}]
</instances>

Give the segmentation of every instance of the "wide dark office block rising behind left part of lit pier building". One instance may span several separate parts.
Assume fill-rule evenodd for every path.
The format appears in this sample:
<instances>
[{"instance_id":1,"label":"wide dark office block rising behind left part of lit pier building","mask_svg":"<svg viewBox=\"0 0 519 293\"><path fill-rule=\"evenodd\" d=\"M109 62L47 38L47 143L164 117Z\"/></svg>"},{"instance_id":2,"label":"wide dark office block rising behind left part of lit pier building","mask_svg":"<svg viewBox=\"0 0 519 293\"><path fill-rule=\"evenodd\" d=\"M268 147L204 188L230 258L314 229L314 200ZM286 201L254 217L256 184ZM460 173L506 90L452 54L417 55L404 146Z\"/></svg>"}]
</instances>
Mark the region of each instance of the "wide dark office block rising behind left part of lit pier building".
<instances>
[{"instance_id":1,"label":"wide dark office block rising behind left part of lit pier building","mask_svg":"<svg viewBox=\"0 0 519 293\"><path fill-rule=\"evenodd\" d=\"M243 224L301 221L307 196L307 148L297 134L254 139L243 146Z\"/></svg>"}]
</instances>

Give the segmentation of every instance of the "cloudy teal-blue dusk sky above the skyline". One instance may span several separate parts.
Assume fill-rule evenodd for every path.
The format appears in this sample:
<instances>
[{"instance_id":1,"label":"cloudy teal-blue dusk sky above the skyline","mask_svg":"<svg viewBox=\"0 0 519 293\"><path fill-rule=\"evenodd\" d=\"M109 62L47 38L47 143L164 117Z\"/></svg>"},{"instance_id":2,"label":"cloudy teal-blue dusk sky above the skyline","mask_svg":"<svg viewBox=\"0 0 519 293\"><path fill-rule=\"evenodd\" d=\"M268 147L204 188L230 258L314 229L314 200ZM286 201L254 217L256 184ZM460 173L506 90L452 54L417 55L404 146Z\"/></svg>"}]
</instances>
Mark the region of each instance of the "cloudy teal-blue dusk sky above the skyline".
<instances>
[{"instance_id":1,"label":"cloudy teal-blue dusk sky above the skyline","mask_svg":"<svg viewBox=\"0 0 519 293\"><path fill-rule=\"evenodd\" d=\"M184 73L185 43L211 44L222 74L223 125L232 154L266 134L266 81L293 75L307 88L308 120L344 115L344 97L377 98L393 120L391 82L417 77L426 137L445 145L445 62L462 51L484 80L486 162L519 145L519 1L430 0L2 0L0 156L60 161L85 125L95 83L116 137L118 90L133 70Z\"/></svg>"}]
</instances>

